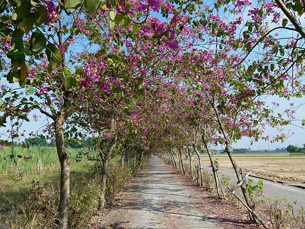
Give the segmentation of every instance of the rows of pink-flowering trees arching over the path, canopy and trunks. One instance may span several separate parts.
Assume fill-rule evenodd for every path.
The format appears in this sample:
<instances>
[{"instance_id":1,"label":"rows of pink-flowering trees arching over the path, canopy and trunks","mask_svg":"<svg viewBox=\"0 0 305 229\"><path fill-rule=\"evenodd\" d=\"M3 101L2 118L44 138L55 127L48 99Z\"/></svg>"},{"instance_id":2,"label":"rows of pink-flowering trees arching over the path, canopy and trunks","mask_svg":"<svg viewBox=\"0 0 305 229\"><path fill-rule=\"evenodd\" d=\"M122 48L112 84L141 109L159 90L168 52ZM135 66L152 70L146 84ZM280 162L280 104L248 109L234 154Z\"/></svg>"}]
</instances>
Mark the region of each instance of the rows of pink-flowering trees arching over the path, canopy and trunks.
<instances>
[{"instance_id":1,"label":"rows of pink-flowering trees arching over the path, canopy and trunks","mask_svg":"<svg viewBox=\"0 0 305 229\"><path fill-rule=\"evenodd\" d=\"M0 125L9 126L0 144L14 145L32 110L46 117L42 132L60 162L60 228L69 211L66 141L95 137L104 189L114 152L181 157L192 148L199 165L205 152L215 167L216 144L240 182L232 142L284 140L264 129L288 125L294 107L278 113L265 99L304 93L301 1L7 0L0 13Z\"/></svg>"}]
</instances>

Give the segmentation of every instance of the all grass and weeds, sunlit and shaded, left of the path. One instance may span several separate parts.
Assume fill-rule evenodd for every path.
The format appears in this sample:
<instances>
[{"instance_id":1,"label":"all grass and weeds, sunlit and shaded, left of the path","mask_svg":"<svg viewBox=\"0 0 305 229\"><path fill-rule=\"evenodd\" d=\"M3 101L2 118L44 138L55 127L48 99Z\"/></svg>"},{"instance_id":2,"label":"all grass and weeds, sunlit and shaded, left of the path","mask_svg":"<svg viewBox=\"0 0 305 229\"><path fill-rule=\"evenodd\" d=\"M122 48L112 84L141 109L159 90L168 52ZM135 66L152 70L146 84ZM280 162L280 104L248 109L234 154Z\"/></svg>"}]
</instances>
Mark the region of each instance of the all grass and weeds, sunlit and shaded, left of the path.
<instances>
[{"instance_id":1,"label":"all grass and weeds, sunlit and shaded, left of the path","mask_svg":"<svg viewBox=\"0 0 305 229\"><path fill-rule=\"evenodd\" d=\"M81 160L82 150L85 149L68 149L71 155L69 228L90 228L87 225L97 212L101 193L101 175L95 173L93 162ZM0 228L54 228L60 180L55 147L15 147L13 153L15 160L10 158L11 148L0 151ZM32 156L31 160L26 159L28 156ZM106 204L114 202L139 164L121 167L119 158L111 159Z\"/></svg>"}]
</instances>

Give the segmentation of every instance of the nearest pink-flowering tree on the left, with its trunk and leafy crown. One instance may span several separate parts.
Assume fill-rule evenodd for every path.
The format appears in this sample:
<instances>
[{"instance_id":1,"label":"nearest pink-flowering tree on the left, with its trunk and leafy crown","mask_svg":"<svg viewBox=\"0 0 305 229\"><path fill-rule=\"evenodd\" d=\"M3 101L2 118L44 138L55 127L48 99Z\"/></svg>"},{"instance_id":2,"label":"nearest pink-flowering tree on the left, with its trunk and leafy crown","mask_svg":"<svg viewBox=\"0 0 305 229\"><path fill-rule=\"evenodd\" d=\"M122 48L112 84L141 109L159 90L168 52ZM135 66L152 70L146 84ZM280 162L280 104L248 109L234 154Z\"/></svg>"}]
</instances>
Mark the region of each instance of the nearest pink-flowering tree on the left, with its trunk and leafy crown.
<instances>
[{"instance_id":1,"label":"nearest pink-flowering tree on the left, with its trunk and leafy crown","mask_svg":"<svg viewBox=\"0 0 305 229\"><path fill-rule=\"evenodd\" d=\"M171 14L171 5L166 2L163 4L162 11ZM19 104L4 101L1 124L6 123L7 117L13 118L15 115L18 120L27 121L27 113L32 109L40 110L52 120L61 166L59 225L64 228L67 226L70 182L70 158L65 149L64 125L72 113L79 109L79 100L76 98L97 81L96 72L104 74L105 63L113 62L108 56L106 61L101 59L95 66L80 68L77 53L95 52L98 49L107 51L113 47L108 46L109 41L115 43L114 47L117 48L121 39L130 37L131 41L135 40L135 33L146 38L156 36L156 41L177 48L173 41L174 33L170 30L172 24L150 19L151 10L159 12L159 1L100 3L92 0L23 0L4 1L0 7L0 47L4 56L1 62L2 74L8 83L19 82L22 87L16 89L13 85L11 92L8 90L9 84L3 88L4 98L18 95L13 102ZM115 30L121 25L125 33ZM124 38L119 37L123 35ZM78 44L84 44L81 50L76 49ZM95 47L88 49L89 45ZM99 83L104 91L108 90L103 81Z\"/></svg>"}]
</instances>

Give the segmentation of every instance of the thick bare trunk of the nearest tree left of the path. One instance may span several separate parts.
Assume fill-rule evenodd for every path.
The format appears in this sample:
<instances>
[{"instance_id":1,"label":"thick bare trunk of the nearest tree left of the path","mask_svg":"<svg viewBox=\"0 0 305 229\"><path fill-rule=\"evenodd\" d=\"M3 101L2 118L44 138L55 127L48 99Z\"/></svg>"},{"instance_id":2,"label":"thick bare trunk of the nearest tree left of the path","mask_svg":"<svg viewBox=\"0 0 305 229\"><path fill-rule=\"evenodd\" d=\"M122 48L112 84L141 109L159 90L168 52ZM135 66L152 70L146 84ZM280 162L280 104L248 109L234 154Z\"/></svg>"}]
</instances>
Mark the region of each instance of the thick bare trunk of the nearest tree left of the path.
<instances>
[{"instance_id":1,"label":"thick bare trunk of the nearest tree left of the path","mask_svg":"<svg viewBox=\"0 0 305 229\"><path fill-rule=\"evenodd\" d=\"M70 156L66 151L64 139L65 119L56 117L55 121L55 141L58 159L60 162L60 197L59 197L59 228L67 228L69 197L70 197Z\"/></svg>"}]
</instances>

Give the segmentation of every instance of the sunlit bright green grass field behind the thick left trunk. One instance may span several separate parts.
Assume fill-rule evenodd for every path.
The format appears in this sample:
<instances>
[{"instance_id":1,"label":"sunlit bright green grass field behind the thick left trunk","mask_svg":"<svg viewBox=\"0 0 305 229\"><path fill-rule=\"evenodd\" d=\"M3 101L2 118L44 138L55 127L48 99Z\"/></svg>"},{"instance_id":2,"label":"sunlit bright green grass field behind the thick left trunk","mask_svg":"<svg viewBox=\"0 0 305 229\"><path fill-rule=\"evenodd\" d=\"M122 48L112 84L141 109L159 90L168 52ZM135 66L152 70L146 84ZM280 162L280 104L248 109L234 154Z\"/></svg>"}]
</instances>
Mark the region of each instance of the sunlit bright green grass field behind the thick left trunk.
<instances>
[{"instance_id":1,"label":"sunlit bright green grass field behind the thick left trunk","mask_svg":"<svg viewBox=\"0 0 305 229\"><path fill-rule=\"evenodd\" d=\"M88 174L89 163L75 161L80 149L67 150L71 155L71 180ZM0 152L0 212L9 207L8 202L22 201L34 187L59 184L60 165L55 147L14 147L15 160L10 158L11 148ZM32 158L24 158L28 156Z\"/></svg>"}]
</instances>

